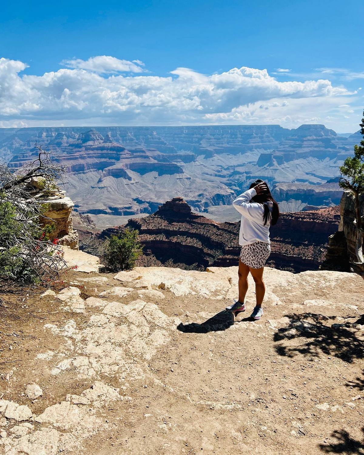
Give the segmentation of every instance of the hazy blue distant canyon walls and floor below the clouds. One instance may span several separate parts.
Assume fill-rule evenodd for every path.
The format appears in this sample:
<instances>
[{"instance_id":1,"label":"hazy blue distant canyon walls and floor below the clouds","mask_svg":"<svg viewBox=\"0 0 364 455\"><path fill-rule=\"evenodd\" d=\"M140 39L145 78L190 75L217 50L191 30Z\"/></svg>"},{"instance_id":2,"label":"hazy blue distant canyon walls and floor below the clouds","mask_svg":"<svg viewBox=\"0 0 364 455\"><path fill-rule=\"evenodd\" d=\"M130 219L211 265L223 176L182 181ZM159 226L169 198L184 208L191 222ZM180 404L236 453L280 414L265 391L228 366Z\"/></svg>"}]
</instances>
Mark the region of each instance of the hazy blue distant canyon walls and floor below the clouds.
<instances>
[{"instance_id":1,"label":"hazy blue distant canyon walls and floor below the clouds","mask_svg":"<svg viewBox=\"0 0 364 455\"><path fill-rule=\"evenodd\" d=\"M360 139L324 125L1 128L0 159L19 168L35 157L35 142L54 152L75 210L102 228L151 214L172 197L223 221L257 178L282 211L337 205L339 166Z\"/></svg>"}]
</instances>

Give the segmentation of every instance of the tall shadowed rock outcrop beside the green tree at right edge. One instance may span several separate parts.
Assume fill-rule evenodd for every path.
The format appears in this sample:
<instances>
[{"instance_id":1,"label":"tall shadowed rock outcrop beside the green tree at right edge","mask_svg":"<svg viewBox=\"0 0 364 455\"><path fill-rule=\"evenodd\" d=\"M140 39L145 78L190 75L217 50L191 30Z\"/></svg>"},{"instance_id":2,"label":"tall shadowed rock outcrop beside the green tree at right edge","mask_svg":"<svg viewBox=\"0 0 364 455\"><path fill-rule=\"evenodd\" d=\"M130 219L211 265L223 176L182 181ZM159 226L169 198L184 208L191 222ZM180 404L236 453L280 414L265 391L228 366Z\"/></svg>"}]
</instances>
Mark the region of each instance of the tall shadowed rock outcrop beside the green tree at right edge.
<instances>
[{"instance_id":1,"label":"tall shadowed rock outcrop beside the green tree at right edge","mask_svg":"<svg viewBox=\"0 0 364 455\"><path fill-rule=\"evenodd\" d=\"M361 215L364 219L364 194L359 197ZM354 262L357 262L355 246L357 233L355 229L355 204L354 195L351 191L344 191L340 201L340 223L338 231L329 237L329 248L322 270L339 270L349 272L356 270Z\"/></svg>"}]
</instances>

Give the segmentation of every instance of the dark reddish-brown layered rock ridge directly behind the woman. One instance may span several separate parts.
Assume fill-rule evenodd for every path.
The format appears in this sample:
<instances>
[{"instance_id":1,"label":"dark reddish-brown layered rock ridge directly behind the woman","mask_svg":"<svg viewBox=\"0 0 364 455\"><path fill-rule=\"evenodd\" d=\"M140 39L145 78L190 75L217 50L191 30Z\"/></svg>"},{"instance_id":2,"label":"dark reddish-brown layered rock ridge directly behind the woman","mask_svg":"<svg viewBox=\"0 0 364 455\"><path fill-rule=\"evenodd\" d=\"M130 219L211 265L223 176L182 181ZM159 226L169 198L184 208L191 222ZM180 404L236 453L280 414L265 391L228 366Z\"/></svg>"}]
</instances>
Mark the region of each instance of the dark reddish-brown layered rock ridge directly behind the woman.
<instances>
[{"instance_id":1,"label":"dark reddish-brown layered rock ridge directly behind the woman","mask_svg":"<svg viewBox=\"0 0 364 455\"><path fill-rule=\"evenodd\" d=\"M327 239L337 230L339 209L283 213L271 227L272 254L268 265L301 272L318 270L324 260ZM168 265L184 269L237 265L239 222L214 222L193 213L182 197L160 206L153 215L130 219L125 226L108 228L101 233L81 235L81 248L103 255L106 237L124 227L136 229L143 245L139 265Z\"/></svg>"}]
</instances>

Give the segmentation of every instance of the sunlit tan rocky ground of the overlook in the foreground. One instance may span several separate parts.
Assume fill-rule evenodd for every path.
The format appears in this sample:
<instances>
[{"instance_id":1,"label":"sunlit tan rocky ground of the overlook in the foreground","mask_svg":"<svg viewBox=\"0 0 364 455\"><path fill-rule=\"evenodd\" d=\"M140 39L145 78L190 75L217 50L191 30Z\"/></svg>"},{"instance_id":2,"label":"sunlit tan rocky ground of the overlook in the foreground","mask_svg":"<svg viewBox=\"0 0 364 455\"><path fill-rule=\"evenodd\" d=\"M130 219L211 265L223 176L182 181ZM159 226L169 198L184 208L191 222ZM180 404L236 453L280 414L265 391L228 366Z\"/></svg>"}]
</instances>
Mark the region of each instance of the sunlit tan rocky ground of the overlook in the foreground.
<instances>
[{"instance_id":1,"label":"sunlit tan rocky ground of the overlook in the foreground","mask_svg":"<svg viewBox=\"0 0 364 455\"><path fill-rule=\"evenodd\" d=\"M364 282L265 271L263 319L221 311L237 268L78 265L0 294L0 453L363 454ZM29 295L28 295L29 294Z\"/></svg>"}]
</instances>

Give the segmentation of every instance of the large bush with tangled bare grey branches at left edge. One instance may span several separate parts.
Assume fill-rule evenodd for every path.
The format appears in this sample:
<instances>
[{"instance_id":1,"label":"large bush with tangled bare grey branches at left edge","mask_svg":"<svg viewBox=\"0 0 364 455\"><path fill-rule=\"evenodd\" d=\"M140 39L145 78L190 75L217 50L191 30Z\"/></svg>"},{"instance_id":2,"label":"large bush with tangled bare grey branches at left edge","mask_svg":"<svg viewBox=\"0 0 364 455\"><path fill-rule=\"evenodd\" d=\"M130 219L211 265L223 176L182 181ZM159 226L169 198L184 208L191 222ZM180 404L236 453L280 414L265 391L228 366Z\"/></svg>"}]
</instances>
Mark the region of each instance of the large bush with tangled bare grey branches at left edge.
<instances>
[{"instance_id":1,"label":"large bush with tangled bare grey branches at left edge","mask_svg":"<svg viewBox=\"0 0 364 455\"><path fill-rule=\"evenodd\" d=\"M38 158L14 172L0 162L0 283L48 283L66 268L58 239L51 241L55 224L44 216L42 198L57 189L65 168L35 144ZM40 194L34 194L39 182ZM46 221L45 221L46 220Z\"/></svg>"}]
</instances>

